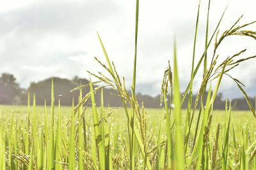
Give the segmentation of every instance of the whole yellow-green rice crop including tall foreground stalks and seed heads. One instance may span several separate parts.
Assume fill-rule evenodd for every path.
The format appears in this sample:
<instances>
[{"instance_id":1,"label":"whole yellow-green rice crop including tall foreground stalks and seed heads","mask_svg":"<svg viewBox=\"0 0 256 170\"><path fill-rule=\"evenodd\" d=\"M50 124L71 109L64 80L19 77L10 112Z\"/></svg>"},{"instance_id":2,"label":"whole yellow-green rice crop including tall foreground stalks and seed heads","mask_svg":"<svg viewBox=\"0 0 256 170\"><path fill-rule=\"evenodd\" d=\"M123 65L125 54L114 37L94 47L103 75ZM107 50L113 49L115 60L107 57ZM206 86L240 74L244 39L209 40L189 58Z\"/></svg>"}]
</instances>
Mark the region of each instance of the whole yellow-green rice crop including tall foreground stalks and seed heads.
<instances>
[{"instance_id":1,"label":"whole yellow-green rice crop including tall foreground stalks and seed heads","mask_svg":"<svg viewBox=\"0 0 256 170\"><path fill-rule=\"evenodd\" d=\"M28 95L24 114L12 111L8 116L8 111L0 110L0 169L256 169L255 109L243 89L243 83L229 74L241 62L254 59L256 55L241 57L246 51L241 49L220 60L218 54L223 39L230 36L256 39L256 32L247 30L255 22L240 24L242 16L221 33L219 26L225 10L209 36L210 7L209 0L204 51L196 64L200 2L198 4L191 76L183 96L180 96L179 53L174 40L173 62L168 62L159 87L162 110L148 114L150 110L136 98L137 0L131 89L127 88L125 78L118 74L97 32L106 64L96 57L95 60L108 74L88 71L98 81L90 80L90 84L73 89L80 91L77 106L74 106L73 99L72 108L63 111L61 99L58 99L58 110L55 110L52 80L51 107L47 107L46 102L44 108L36 106L34 94L32 108ZM211 45L214 48L212 53L208 51ZM195 89L193 80L200 67L204 74L200 89ZM250 122L237 122L238 113L232 110L230 101L227 101L225 111L214 110L214 100L223 76L234 80L244 95L251 112L248 116L252 119ZM122 99L122 108L104 108L104 87L117 92ZM90 88L90 92L83 94L83 88ZM196 91L196 100L193 101L192 94ZM96 92L101 96L99 106L95 103ZM184 111L181 106L186 97L188 106ZM122 120L116 120L120 117Z\"/></svg>"}]
</instances>

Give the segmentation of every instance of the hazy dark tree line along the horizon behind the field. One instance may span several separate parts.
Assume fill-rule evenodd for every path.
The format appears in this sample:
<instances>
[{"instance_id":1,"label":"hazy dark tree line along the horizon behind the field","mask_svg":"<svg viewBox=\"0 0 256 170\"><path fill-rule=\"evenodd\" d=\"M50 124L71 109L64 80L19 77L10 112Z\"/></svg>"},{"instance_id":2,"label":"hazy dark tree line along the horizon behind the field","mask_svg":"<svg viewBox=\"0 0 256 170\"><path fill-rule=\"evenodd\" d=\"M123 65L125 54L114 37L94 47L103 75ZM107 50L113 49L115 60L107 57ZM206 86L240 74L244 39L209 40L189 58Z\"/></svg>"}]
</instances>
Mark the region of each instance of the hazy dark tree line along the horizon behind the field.
<instances>
[{"instance_id":1,"label":"hazy dark tree line along the horizon behind the field","mask_svg":"<svg viewBox=\"0 0 256 170\"><path fill-rule=\"evenodd\" d=\"M52 78L47 78L38 82L31 82L28 89L22 89L17 83L15 76L9 73L3 73L0 77L0 104L27 104L28 92L31 94L31 102L33 94L36 95L36 104L44 105L45 101L49 105L51 104L51 80ZM72 80L66 78L54 77L54 96L55 104L58 104L58 98L60 98L61 105L70 106L72 104L72 99L74 98L75 104L77 104L79 90L70 92L70 90L79 87L81 84L86 85L89 83L88 80L84 78L79 78L75 76ZM89 92L89 87L83 88L83 96ZM96 103L99 106L100 102L100 92L96 92L95 95ZM137 94L137 99L139 103L144 103L147 108L160 108L160 95L152 97L149 95L144 95L141 93ZM193 96L193 101L195 101L196 96ZM205 99L204 99L205 101ZM254 99L251 98L252 103L255 103ZM90 102L90 100L88 101ZM188 105L188 97L185 99L183 107L186 108ZM90 105L90 103L88 103ZM111 107L122 106L122 101L115 90L104 88L104 105ZM248 110L246 100L244 98L237 98L232 100L233 108L236 110ZM225 99L221 93L218 94L214 102L214 109L224 110L225 109Z\"/></svg>"}]
</instances>

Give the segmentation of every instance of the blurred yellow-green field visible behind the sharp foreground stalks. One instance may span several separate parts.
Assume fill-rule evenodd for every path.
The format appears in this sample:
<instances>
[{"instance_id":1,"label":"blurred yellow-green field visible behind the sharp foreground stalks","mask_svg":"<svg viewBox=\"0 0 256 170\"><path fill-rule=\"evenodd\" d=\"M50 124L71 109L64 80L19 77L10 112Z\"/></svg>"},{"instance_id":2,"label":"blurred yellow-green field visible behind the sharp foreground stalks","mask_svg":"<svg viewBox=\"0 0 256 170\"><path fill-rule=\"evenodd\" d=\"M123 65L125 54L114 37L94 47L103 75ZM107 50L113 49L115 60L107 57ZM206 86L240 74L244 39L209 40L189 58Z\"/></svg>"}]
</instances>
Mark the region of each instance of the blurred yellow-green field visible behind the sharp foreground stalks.
<instances>
[{"instance_id":1,"label":"blurred yellow-green field visible behind the sharp foreground stalks","mask_svg":"<svg viewBox=\"0 0 256 170\"><path fill-rule=\"evenodd\" d=\"M1 110L1 125L0 125L0 134L1 145L5 146L5 162L6 167L10 166L11 169L28 169L31 166L32 169L47 169L47 164L45 161L47 160L47 151L45 147L47 147L45 143L45 132L49 129L49 125L47 125L47 130L45 130L45 110L47 113L47 122L51 120L50 114L51 107L44 106L36 106L35 108L29 108L28 106L0 106ZM58 106L55 106L55 110L58 110ZM30 113L29 113L29 112ZM97 111L100 113L100 108L97 108ZM129 150L129 144L127 141L127 124L124 108L105 108L104 114L109 115L107 118L108 129L109 130L109 148L112 160L111 166L114 169L125 169L125 167L129 167L129 155L127 152ZM83 127L83 168L84 169L97 169L99 167L99 155L97 157L96 151L94 151L95 155L93 155L93 150L95 150L95 139L93 139L93 111L92 108L86 108L86 111L83 113L83 118L85 122L85 126ZM198 114L198 111L196 111ZM54 162L54 168L58 169L68 169L68 163L70 163L70 139L71 137L71 129L72 126L67 124L70 121L70 117L72 115L72 107L61 106L60 108L60 118L59 115L54 116L54 143L57 145L58 141L58 133L61 134L61 161ZM35 117L34 117L35 116ZM29 118L31 117L31 119ZM30 125L28 125L28 120ZM61 130L58 130L58 122L61 120ZM185 128L186 120L186 110L182 110L182 128ZM76 120L77 121L77 120ZM35 127L33 124L35 123ZM223 164L223 147L225 146L225 141L227 141L225 134L227 131L227 112L223 110L214 110L213 118L212 118L212 128L209 133L209 151L212 152L212 147L214 147L214 142L216 139L216 132L218 131L218 124L220 123L220 134L218 139L218 151L216 152L216 169L221 168L221 164ZM74 123L76 124L76 123ZM83 124L84 125L84 124ZM78 129L78 125L76 124L76 129ZM140 127L140 125L138 125ZM106 127L105 127L106 128ZM191 127L192 132L195 132L195 126ZM231 119L230 119L230 133L228 135L228 155L227 155L227 167L229 169L234 169L235 167L239 169L241 157L239 156L241 152L243 152L243 146L246 145L247 148L250 148L252 144L256 141L256 125L255 120L250 113L250 111L231 111ZM36 129L36 134L33 134L33 131ZM161 131L161 132L160 132ZM150 164L153 169L163 169L164 166L167 166L167 157L165 153L165 145L166 143L166 122L164 120L164 111L161 109L147 109L147 138L150 138L148 141L148 156L150 157ZM160 134L160 137L159 137ZM36 137L33 137L35 135ZM195 134L191 133L191 136ZM76 150L75 155L78 152L78 136L77 134L73 137L74 148ZM159 145L159 139L161 139L161 146ZM246 140L246 143L244 143ZM74 144L75 144L74 143ZM38 149L35 148L33 154L33 164L31 164L31 160L29 159L29 155L31 155L31 145L35 145ZM193 140L189 141L189 150L191 150L191 146L193 145ZM250 151L248 153L253 153L254 145L252 145ZM106 148L105 148L106 149ZM145 164L142 155L138 151L138 146L135 146L135 150L138 153L136 155L135 161L135 169L144 169ZM174 149L174 148L173 148ZM45 151L44 151L45 150ZM159 150L162 152L161 154L157 153ZM0 148L0 151L3 156L3 148ZM42 152L43 151L43 152ZM54 152L54 160L56 160L56 153ZM255 151L254 151L255 152ZM247 153L247 154L248 154ZM163 163L157 166L157 155L161 155L163 159ZM0 155L1 157L1 155ZM75 164L79 164L77 161L79 160L75 156ZM94 160L93 160L94 159ZM161 160L160 159L160 160ZM250 160L250 154L248 154L248 160ZM3 169L3 162L0 162L1 167ZM175 163L173 163L175 164ZM211 164L211 162L209 162ZM57 166L57 165L61 165ZM143 166L144 165L144 166ZM196 164L191 166L196 167ZM250 166L250 169L255 169L256 161L253 159L253 164ZM165 167L167 168L167 167ZM194 169L193 168L193 169ZM8 169L8 168L7 168ZM108 169L108 168L106 168Z\"/></svg>"}]
</instances>

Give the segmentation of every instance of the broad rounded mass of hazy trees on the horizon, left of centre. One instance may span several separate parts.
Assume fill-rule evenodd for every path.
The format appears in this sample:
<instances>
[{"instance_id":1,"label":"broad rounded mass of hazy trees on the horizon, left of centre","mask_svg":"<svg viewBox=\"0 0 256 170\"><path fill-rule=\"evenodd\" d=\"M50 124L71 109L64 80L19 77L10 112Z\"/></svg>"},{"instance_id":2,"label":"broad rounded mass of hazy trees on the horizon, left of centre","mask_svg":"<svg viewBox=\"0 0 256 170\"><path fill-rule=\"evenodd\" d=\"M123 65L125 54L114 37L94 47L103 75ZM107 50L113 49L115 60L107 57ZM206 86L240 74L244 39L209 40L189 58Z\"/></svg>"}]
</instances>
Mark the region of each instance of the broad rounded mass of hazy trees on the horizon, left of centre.
<instances>
[{"instance_id":1,"label":"broad rounded mass of hazy trees on the horizon, left of centre","mask_svg":"<svg viewBox=\"0 0 256 170\"><path fill-rule=\"evenodd\" d=\"M51 78L47 78L38 82L31 82L28 92L30 92L31 96L35 93L36 95L36 104L43 105L46 100L47 104L51 102ZM70 106L72 104L72 99L74 98L74 103L77 104L77 99L79 97L79 90L75 90L70 92L70 90L79 87L80 83L82 85L86 85L89 83L85 78L79 78L75 76L72 80L68 80L66 78L58 78L54 77L54 95L55 95L55 104L58 104L58 98L60 98L61 105ZM83 97L90 92L89 87L83 87ZM32 101L32 100L31 100ZM95 101L97 106L100 104L100 90L96 92ZM26 103L24 103L26 104ZM90 99L88 100L88 104L90 105ZM104 89L104 104L105 106L116 107L122 106L122 101L120 97L116 95L115 90L112 89Z\"/></svg>"}]
</instances>

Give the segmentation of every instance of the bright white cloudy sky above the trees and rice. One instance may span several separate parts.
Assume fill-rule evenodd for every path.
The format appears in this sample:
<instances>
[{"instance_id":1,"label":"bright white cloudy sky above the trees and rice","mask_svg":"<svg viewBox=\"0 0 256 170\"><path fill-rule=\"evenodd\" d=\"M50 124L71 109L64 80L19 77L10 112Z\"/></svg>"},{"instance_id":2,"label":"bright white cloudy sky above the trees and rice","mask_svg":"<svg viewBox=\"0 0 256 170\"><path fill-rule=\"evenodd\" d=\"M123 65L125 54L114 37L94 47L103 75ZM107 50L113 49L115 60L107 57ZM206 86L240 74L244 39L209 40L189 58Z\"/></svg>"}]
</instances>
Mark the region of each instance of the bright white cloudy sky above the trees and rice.
<instances>
[{"instance_id":1,"label":"bright white cloudy sky above the trees and rice","mask_svg":"<svg viewBox=\"0 0 256 170\"><path fill-rule=\"evenodd\" d=\"M193 56L198 0L140 1L138 28L137 91L156 96L161 92L168 60L173 61L173 39L177 41L180 89L188 85ZM198 26L196 60L204 52L208 1L202 0ZM209 35L223 10L227 12L220 32L241 15L241 24L256 20L255 0L211 1ZM97 31L120 76L131 85L134 58L136 1L118 0L8 0L0 2L0 73L12 73L21 87L51 76L89 78L86 71L104 70L95 61L105 62ZM256 24L255 24L256 25ZM250 29L256 30L255 25ZM244 48L243 57L256 55L256 41L227 38L220 46L220 60ZM211 56L212 47L209 48ZM246 85L249 96L256 95L256 59L244 62L230 74ZM195 78L195 90L202 81L202 69ZM243 96L225 76L220 92L224 97Z\"/></svg>"}]
</instances>

